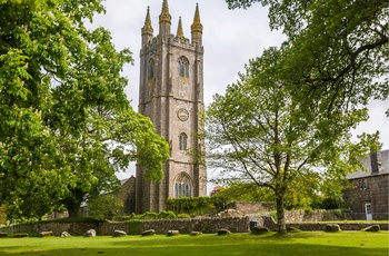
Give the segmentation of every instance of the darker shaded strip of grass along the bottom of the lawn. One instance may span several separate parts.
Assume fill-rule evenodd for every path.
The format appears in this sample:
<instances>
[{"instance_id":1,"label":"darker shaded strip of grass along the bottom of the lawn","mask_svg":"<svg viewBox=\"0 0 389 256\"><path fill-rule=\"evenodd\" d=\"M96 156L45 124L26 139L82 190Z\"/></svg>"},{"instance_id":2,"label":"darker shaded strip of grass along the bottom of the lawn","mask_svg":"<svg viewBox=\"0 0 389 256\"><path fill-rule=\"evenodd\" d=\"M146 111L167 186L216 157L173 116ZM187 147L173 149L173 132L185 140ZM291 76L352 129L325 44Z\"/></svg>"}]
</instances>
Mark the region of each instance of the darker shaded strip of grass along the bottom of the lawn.
<instances>
[{"instance_id":1,"label":"darker shaded strip of grass along the bottom of the lawn","mask_svg":"<svg viewBox=\"0 0 389 256\"><path fill-rule=\"evenodd\" d=\"M315 256L382 256L387 255L386 248L363 248L361 247L341 247L341 246L317 246L305 244L290 245L178 245L178 246L137 246L128 247L109 247L109 248L74 248L74 249L54 249L43 250L33 249L22 253L3 253L1 255L46 255L46 256L88 256L88 255L260 255L260 256L283 256L283 255L315 255Z\"/></svg>"}]
</instances>

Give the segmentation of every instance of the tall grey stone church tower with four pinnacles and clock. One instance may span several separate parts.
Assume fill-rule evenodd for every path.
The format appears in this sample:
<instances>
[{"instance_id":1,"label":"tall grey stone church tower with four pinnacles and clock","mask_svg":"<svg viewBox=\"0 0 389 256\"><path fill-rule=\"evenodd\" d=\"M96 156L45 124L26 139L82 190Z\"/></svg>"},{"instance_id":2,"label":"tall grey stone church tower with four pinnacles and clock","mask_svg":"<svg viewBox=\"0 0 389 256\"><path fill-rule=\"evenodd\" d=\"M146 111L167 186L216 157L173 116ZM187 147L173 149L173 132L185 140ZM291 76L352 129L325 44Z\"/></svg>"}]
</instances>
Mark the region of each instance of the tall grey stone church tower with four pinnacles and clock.
<instances>
[{"instance_id":1,"label":"tall grey stone church tower with four pinnacles and clock","mask_svg":"<svg viewBox=\"0 0 389 256\"><path fill-rule=\"evenodd\" d=\"M146 169L137 166L136 211L166 210L168 198L207 194L207 171L201 157L203 131L203 47L199 7L191 24L191 40L184 37L181 18L171 33L168 1L159 16L154 37L147 9L140 50L139 112L149 117L158 134L170 145L170 159L158 183L144 179Z\"/></svg>"}]
</instances>

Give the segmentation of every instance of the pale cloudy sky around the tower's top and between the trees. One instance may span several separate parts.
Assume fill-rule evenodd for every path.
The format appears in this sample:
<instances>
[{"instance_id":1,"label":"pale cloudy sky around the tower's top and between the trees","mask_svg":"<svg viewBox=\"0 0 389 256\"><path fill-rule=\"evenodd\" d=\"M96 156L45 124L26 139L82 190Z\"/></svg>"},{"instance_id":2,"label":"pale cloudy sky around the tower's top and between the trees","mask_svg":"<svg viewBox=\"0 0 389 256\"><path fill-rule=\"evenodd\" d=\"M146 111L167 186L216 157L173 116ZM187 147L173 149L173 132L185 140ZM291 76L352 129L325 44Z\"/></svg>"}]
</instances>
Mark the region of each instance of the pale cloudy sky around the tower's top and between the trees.
<instances>
[{"instance_id":1,"label":"pale cloudy sky around the tower's top and between the trees","mask_svg":"<svg viewBox=\"0 0 389 256\"><path fill-rule=\"evenodd\" d=\"M212 102L215 93L223 95L228 85L238 80L238 72L245 70L249 59L259 57L263 49L280 46L286 37L280 31L269 28L268 9L253 4L248 10L229 10L225 0L169 0L171 14L171 32L176 35L179 17L182 19L183 35L190 39L196 3L199 4L201 23L203 26L205 47L205 104ZM126 92L132 107L138 109L139 92L139 52L141 48L141 28L144 24L147 7L154 36L158 33L158 17L162 0L106 0L106 14L96 16L93 27L107 28L112 36L117 50L129 48L133 53L133 65L127 65L122 75L129 79ZM368 122L361 124L355 131L380 131L382 149L389 149L389 118L385 111L389 108L386 101L371 101ZM130 167L119 178L133 174Z\"/></svg>"}]
</instances>

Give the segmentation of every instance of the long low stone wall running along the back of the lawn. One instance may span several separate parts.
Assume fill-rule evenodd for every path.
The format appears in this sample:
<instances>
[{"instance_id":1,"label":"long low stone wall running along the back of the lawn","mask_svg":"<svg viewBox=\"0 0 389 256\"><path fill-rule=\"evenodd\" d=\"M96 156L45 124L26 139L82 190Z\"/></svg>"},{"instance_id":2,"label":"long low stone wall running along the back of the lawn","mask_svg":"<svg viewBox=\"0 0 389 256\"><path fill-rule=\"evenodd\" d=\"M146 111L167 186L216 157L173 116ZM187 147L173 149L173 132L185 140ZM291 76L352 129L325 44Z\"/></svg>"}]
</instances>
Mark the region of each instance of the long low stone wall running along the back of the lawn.
<instances>
[{"instance_id":1,"label":"long low stone wall running along the back of the lawn","mask_svg":"<svg viewBox=\"0 0 389 256\"><path fill-rule=\"evenodd\" d=\"M83 236L87 230L94 229L99 236L111 236L114 230L123 230L129 235L140 235L143 230L154 229L157 234L164 235L168 230L179 230L180 234L190 232L202 232L205 234L216 234L221 228L227 228L233 233L248 233L253 223L257 226L265 226L276 232L277 224L269 216L253 217L226 217L226 218L192 218L192 219L166 219L166 220L136 220L127 223L41 223L34 225L19 225L13 228L0 228L2 233L28 233L38 234L41 232L52 232L54 236L60 236L62 232L68 232L72 236ZM342 230L361 230L377 223L339 223ZM325 230L326 223L289 223L287 227L295 227L301 230ZM389 230L389 224L379 224L381 229Z\"/></svg>"}]
</instances>

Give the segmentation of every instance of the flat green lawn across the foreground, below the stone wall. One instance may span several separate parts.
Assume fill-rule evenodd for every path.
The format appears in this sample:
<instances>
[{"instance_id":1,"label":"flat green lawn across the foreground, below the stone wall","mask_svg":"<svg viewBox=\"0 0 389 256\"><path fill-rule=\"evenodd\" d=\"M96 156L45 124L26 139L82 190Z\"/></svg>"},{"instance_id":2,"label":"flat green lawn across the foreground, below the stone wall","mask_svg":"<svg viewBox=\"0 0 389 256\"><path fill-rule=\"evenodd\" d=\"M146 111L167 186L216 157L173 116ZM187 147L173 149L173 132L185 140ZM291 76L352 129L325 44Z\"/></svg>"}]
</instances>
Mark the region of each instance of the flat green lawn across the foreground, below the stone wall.
<instances>
[{"instance_id":1,"label":"flat green lawn across the foreground, below the stone wall","mask_svg":"<svg viewBox=\"0 0 389 256\"><path fill-rule=\"evenodd\" d=\"M386 256L389 233L322 232L278 236L232 234L230 236L180 235L167 237L48 237L1 238L0 255L260 255L260 256Z\"/></svg>"}]
</instances>

